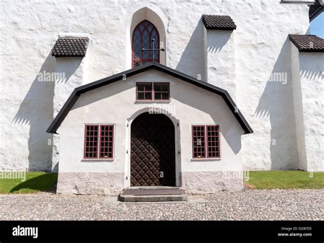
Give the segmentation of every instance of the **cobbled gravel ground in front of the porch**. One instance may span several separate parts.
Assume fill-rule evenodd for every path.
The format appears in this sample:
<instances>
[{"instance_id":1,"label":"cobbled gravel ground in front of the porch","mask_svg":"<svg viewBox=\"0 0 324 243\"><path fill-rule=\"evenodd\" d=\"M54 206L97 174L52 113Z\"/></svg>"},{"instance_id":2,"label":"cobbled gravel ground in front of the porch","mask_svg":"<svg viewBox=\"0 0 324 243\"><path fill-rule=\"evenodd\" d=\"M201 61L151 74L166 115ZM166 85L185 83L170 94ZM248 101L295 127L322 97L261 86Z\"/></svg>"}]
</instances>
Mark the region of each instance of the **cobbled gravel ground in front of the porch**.
<instances>
[{"instance_id":1,"label":"cobbled gravel ground in front of the porch","mask_svg":"<svg viewBox=\"0 0 324 243\"><path fill-rule=\"evenodd\" d=\"M120 203L90 195L2 194L0 220L324 220L324 190L243 190L186 203Z\"/></svg>"}]
</instances>

